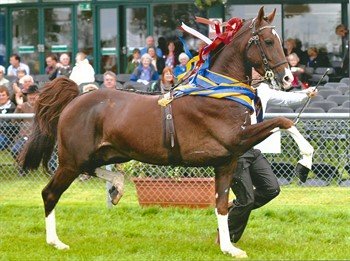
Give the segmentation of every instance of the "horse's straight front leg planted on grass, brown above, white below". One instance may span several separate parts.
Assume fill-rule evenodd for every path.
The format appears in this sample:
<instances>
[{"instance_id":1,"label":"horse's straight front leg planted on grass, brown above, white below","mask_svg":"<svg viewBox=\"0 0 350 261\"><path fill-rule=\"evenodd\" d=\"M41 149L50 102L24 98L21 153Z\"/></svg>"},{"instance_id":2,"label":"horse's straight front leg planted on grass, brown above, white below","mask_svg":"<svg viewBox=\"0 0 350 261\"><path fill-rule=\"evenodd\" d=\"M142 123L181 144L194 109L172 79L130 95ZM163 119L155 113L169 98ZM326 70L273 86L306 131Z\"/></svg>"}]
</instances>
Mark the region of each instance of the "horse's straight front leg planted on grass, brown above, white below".
<instances>
[{"instance_id":1,"label":"horse's straight front leg planted on grass, brown above, white below","mask_svg":"<svg viewBox=\"0 0 350 261\"><path fill-rule=\"evenodd\" d=\"M230 254L233 257L247 257L246 252L232 245L228 228L228 195L232 182L233 173L237 167L237 160L232 161L226 166L215 169L215 196L216 196L216 217L219 226L220 249L224 254Z\"/></svg>"}]
</instances>

